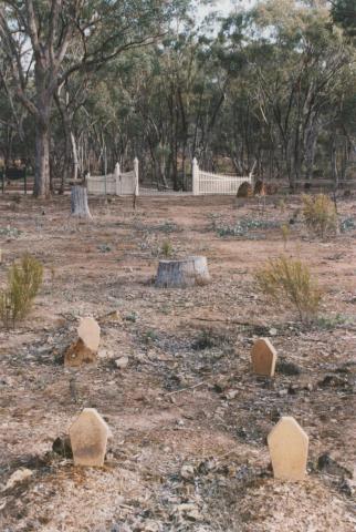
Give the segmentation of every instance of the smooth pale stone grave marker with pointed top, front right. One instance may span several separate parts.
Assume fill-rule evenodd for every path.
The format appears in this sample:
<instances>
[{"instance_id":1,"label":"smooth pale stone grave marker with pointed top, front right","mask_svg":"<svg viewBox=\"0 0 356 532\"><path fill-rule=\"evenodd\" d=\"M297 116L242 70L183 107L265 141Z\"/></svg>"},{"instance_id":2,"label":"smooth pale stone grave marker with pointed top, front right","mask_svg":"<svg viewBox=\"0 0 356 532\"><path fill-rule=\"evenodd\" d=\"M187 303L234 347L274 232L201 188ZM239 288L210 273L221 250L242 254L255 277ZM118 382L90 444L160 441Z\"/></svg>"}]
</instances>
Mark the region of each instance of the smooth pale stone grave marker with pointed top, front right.
<instances>
[{"instance_id":1,"label":"smooth pale stone grave marker with pointed top, front right","mask_svg":"<svg viewBox=\"0 0 356 532\"><path fill-rule=\"evenodd\" d=\"M275 479L299 481L306 474L308 437L292 417L283 417L268 436Z\"/></svg>"}]
</instances>

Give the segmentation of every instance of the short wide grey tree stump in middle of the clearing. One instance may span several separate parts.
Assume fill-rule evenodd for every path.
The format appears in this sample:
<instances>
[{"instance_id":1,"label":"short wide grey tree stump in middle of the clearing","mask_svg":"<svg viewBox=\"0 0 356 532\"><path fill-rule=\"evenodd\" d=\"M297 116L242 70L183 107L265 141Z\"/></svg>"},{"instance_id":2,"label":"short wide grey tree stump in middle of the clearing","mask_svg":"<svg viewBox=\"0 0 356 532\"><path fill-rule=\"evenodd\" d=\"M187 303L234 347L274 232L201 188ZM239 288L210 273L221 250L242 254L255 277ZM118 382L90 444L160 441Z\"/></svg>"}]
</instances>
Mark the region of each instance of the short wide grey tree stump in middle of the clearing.
<instances>
[{"instance_id":1,"label":"short wide grey tree stump in middle of the clearing","mask_svg":"<svg viewBox=\"0 0 356 532\"><path fill-rule=\"evenodd\" d=\"M206 285L210 280L206 257L159 260L156 286L160 288Z\"/></svg>"}]
</instances>

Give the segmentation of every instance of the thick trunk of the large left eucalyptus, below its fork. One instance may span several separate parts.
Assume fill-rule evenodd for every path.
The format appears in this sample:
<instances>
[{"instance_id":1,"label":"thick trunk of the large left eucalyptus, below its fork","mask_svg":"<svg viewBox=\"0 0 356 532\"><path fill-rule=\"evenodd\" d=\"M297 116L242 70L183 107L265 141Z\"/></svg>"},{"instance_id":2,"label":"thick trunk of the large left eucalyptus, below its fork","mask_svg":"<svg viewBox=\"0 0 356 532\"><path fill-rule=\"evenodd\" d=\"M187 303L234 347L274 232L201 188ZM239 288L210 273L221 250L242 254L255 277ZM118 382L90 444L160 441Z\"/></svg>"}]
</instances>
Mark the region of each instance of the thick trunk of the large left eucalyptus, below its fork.
<instances>
[{"instance_id":1,"label":"thick trunk of the large left eucalyptus, below its fork","mask_svg":"<svg viewBox=\"0 0 356 532\"><path fill-rule=\"evenodd\" d=\"M42 124L38 124L35 130L33 195L35 197L50 196L50 129Z\"/></svg>"}]
</instances>

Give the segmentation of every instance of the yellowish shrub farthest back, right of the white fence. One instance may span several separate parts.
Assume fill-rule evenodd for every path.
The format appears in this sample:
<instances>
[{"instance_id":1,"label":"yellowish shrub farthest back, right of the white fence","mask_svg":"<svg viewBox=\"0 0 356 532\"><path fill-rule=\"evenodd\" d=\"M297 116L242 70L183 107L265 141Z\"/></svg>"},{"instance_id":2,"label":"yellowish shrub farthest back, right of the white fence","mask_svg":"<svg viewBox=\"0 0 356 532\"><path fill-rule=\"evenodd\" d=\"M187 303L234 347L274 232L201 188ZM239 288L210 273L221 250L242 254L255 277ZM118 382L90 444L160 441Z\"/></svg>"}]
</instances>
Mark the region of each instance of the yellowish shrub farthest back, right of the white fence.
<instances>
[{"instance_id":1,"label":"yellowish shrub farthest back, right of the white fence","mask_svg":"<svg viewBox=\"0 0 356 532\"><path fill-rule=\"evenodd\" d=\"M326 194L303 195L303 216L308 231L321 238L337 232L335 205Z\"/></svg>"}]
</instances>

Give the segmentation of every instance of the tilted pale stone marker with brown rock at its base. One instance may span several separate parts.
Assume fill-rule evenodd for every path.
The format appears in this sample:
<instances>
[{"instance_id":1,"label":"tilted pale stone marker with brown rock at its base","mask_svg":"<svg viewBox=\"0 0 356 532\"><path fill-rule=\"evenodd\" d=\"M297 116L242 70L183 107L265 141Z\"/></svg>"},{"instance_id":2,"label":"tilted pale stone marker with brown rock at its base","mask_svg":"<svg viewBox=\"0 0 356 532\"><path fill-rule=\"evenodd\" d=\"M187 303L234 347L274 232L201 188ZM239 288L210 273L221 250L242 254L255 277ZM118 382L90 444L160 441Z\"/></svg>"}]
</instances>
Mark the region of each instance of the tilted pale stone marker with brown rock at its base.
<instances>
[{"instance_id":1,"label":"tilted pale stone marker with brown rock at its base","mask_svg":"<svg viewBox=\"0 0 356 532\"><path fill-rule=\"evenodd\" d=\"M78 367L96 361L101 328L94 318L82 318L77 328L77 339L64 355L64 366Z\"/></svg>"}]
</instances>

